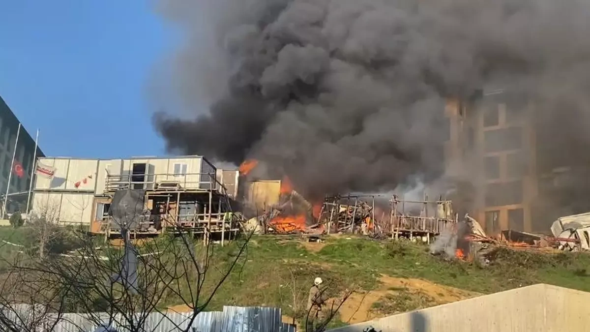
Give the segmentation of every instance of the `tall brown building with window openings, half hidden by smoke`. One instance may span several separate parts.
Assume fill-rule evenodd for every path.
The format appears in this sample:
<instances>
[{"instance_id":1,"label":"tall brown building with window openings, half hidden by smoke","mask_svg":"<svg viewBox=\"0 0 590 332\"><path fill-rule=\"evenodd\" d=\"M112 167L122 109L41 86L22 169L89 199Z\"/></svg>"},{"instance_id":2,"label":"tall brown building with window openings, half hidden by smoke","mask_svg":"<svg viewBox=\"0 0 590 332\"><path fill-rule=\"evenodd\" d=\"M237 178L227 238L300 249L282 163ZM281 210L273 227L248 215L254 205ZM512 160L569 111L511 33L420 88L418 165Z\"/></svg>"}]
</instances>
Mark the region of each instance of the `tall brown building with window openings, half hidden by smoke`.
<instances>
[{"instance_id":1,"label":"tall brown building with window openings, half hidden by smoke","mask_svg":"<svg viewBox=\"0 0 590 332\"><path fill-rule=\"evenodd\" d=\"M590 210L580 199L590 190L588 167L572 158L559 131L567 125L557 122L571 121L565 113L540 119L532 100L484 89L472 99L447 100L445 115L445 174L470 183L467 210L489 235L549 232L558 217Z\"/></svg>"}]
</instances>

